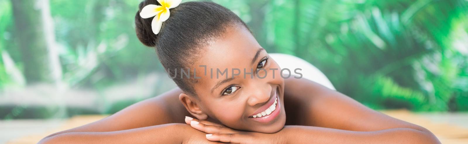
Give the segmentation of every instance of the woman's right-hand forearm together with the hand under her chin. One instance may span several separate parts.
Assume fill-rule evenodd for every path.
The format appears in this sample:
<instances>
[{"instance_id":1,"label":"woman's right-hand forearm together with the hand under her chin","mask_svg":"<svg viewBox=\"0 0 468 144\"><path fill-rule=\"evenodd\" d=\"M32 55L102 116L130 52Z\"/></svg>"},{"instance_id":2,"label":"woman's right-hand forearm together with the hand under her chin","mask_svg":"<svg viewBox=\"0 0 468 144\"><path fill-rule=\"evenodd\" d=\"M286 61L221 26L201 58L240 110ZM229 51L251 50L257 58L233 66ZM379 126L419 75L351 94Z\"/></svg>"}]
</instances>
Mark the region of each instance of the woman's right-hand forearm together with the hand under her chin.
<instances>
[{"instance_id":1,"label":"woman's right-hand forearm together with the hand under her chin","mask_svg":"<svg viewBox=\"0 0 468 144\"><path fill-rule=\"evenodd\" d=\"M198 123L196 123L196 122ZM409 128L375 131L338 130L314 126L285 126L266 134L233 130L224 125L193 118L185 122L194 129L209 133L206 138L234 144L439 144L430 132Z\"/></svg>"}]
</instances>

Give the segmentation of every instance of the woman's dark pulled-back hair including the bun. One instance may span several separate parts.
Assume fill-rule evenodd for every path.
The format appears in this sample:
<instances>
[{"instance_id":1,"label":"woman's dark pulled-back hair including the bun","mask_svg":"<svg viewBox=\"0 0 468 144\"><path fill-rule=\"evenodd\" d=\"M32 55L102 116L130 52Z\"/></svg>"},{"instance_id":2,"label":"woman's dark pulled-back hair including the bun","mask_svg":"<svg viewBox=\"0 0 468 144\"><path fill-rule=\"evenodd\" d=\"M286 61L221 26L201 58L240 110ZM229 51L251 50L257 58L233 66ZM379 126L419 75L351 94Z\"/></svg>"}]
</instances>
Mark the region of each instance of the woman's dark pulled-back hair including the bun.
<instances>
[{"instance_id":1,"label":"woman's dark pulled-back hair including the bun","mask_svg":"<svg viewBox=\"0 0 468 144\"><path fill-rule=\"evenodd\" d=\"M139 16L141 9L149 4L161 5L157 0L140 3L135 15L137 37L144 45L156 48L159 61L169 76L176 75L176 69L190 69L200 49L223 34L229 26L240 25L249 29L226 7L213 2L190 1L170 9L169 19L162 23L159 34L154 34L151 29L153 18ZM173 80L184 92L197 96L192 86L196 82L194 79L176 76Z\"/></svg>"}]
</instances>

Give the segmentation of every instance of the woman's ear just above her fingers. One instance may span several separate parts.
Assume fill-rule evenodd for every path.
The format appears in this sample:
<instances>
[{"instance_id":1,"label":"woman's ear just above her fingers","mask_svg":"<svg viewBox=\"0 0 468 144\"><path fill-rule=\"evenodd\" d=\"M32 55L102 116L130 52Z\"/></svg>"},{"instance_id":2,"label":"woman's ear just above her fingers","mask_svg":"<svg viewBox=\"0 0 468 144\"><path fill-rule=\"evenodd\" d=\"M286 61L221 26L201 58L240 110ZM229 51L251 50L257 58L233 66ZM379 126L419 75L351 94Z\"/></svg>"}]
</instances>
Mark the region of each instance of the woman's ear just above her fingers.
<instances>
[{"instance_id":1,"label":"woman's ear just above her fingers","mask_svg":"<svg viewBox=\"0 0 468 144\"><path fill-rule=\"evenodd\" d=\"M208 118L208 115L206 115L205 112L200 109L200 106L197 104L197 102L194 101L195 97L181 93L179 95L179 100L192 116L197 117L199 120L206 120Z\"/></svg>"}]
</instances>

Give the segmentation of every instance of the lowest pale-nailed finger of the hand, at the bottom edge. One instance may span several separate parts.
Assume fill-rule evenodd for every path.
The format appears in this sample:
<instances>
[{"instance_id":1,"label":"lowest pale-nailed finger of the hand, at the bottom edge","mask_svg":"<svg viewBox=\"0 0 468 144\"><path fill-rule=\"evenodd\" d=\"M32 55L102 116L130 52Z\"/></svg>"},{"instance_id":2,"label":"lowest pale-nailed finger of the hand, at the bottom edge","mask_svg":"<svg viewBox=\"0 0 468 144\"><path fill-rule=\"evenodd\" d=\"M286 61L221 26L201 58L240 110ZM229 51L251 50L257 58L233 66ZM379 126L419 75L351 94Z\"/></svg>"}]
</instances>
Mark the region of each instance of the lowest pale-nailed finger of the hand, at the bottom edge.
<instances>
[{"instance_id":1,"label":"lowest pale-nailed finger of the hand, at the bottom edge","mask_svg":"<svg viewBox=\"0 0 468 144\"><path fill-rule=\"evenodd\" d=\"M210 141L219 141L233 144L248 144L252 142L251 137L239 133L207 134L206 139Z\"/></svg>"}]
</instances>

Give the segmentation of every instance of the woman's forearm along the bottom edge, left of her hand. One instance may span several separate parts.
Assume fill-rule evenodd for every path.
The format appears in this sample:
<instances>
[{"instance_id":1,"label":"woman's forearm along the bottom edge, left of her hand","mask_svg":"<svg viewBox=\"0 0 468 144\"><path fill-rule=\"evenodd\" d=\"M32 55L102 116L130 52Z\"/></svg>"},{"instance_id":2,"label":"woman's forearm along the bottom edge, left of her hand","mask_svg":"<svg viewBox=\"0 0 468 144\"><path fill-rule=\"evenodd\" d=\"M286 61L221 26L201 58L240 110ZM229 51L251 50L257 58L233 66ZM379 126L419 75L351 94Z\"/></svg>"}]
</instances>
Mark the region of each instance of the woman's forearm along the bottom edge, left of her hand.
<instances>
[{"instance_id":1,"label":"woman's forearm along the bottom edge, left of her hand","mask_svg":"<svg viewBox=\"0 0 468 144\"><path fill-rule=\"evenodd\" d=\"M169 123L109 132L67 132L45 137L39 144L181 144L184 127L186 124Z\"/></svg>"}]
</instances>

